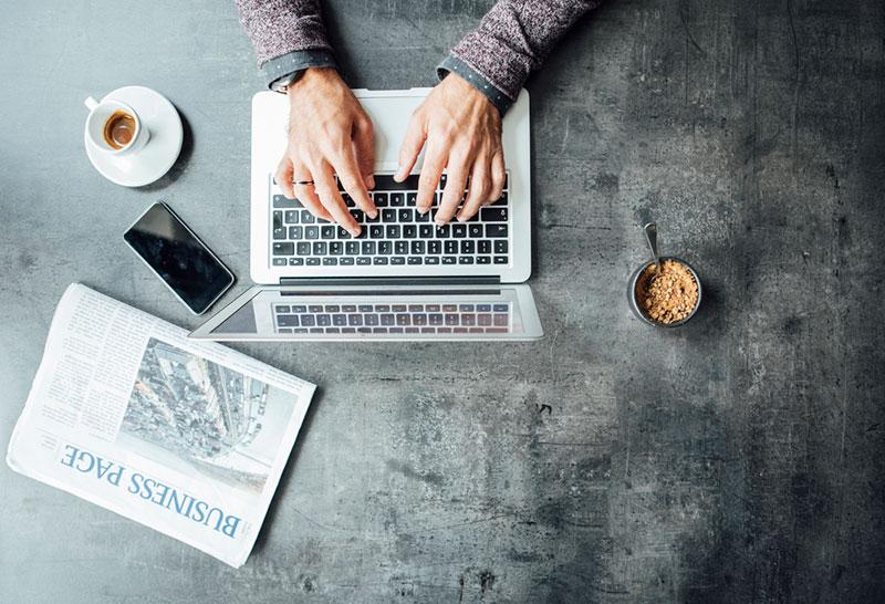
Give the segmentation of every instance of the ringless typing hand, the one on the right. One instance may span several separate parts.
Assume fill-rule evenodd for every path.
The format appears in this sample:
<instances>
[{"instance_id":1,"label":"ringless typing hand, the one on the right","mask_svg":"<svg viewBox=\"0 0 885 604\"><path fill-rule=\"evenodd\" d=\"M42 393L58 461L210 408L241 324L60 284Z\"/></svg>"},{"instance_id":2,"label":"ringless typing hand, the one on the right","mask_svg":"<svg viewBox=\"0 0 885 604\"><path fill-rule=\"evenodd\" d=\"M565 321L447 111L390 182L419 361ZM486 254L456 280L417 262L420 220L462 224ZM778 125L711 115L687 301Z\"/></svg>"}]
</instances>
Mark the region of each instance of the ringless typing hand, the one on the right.
<instances>
[{"instance_id":1,"label":"ringless typing hand, the one on the right","mask_svg":"<svg viewBox=\"0 0 885 604\"><path fill-rule=\"evenodd\" d=\"M459 75L450 73L415 110L403 146L396 180L404 180L421 148L424 167L418 179L417 208L427 212L442 170L446 189L436 223L455 216L470 178L470 190L458 220L464 222L480 206L496 201L504 187L504 152L501 146L501 114L482 93Z\"/></svg>"}]
</instances>

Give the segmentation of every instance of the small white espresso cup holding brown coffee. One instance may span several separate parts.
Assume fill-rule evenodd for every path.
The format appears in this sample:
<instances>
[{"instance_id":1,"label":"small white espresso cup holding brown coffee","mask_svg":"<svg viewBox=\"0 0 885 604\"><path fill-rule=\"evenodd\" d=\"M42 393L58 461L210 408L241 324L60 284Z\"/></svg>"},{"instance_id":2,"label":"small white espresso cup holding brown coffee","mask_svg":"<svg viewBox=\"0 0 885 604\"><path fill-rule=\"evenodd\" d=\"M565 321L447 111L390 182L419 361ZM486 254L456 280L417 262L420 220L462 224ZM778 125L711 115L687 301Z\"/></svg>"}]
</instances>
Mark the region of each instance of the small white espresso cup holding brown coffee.
<instances>
[{"instance_id":1,"label":"small white espresso cup holding brown coffee","mask_svg":"<svg viewBox=\"0 0 885 604\"><path fill-rule=\"evenodd\" d=\"M119 101L96 101L92 96L84 101L90 115L86 117L86 139L108 155L134 153L145 146L150 133L138 114Z\"/></svg>"}]
</instances>

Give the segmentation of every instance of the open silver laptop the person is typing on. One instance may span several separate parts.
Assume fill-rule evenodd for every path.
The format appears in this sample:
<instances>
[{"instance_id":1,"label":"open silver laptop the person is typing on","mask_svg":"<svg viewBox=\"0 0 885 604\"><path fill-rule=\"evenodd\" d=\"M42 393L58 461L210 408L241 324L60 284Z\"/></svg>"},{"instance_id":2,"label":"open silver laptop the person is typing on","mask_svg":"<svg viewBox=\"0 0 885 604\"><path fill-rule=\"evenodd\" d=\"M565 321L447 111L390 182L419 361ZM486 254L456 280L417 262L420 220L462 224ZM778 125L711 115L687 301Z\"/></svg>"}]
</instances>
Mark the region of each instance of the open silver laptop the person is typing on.
<instances>
[{"instance_id":1,"label":"open silver laptop the person is typing on","mask_svg":"<svg viewBox=\"0 0 885 604\"><path fill-rule=\"evenodd\" d=\"M353 238L282 195L273 179L287 146L288 100L252 98L250 273L256 285L190 337L215 341L513 341L542 336L529 285L529 95L503 119L507 186L468 222L437 227L415 210L419 168L395 183L399 143L430 88L356 90L375 125L378 217L342 195ZM419 157L416 166L420 166Z\"/></svg>"}]
</instances>

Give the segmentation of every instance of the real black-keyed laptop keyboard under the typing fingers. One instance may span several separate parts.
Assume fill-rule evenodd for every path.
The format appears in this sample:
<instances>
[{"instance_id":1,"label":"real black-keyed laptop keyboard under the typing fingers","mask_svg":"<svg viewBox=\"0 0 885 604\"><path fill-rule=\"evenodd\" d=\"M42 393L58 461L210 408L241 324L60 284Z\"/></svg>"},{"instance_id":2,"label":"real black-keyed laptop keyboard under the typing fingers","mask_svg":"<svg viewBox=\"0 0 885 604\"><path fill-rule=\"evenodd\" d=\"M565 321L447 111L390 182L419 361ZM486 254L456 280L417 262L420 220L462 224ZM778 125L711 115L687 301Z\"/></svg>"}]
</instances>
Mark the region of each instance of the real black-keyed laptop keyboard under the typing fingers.
<instances>
[{"instance_id":1,"label":"real black-keyed laptop keyboard under the typing fingers","mask_svg":"<svg viewBox=\"0 0 885 604\"><path fill-rule=\"evenodd\" d=\"M356 208L342 191L362 232L352 237L343 228L316 219L296 199L272 195L271 258L274 267L442 265L508 264L510 262L510 206L508 185L501 198L486 206L467 222L438 227L446 176L425 215L415 209L418 175L396 183L391 175L376 175L369 191L378 216L374 219Z\"/></svg>"}]
</instances>

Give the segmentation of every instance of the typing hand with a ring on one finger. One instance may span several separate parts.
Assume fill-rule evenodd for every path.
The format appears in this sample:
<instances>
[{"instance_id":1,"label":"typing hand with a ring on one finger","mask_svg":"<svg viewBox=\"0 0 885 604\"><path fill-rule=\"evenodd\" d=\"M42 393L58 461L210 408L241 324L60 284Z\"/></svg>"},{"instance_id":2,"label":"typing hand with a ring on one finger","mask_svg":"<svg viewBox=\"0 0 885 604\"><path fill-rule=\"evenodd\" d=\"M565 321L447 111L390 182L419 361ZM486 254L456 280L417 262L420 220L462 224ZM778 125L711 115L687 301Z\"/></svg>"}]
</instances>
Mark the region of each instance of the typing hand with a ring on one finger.
<instances>
[{"instance_id":1,"label":"typing hand with a ring on one finger","mask_svg":"<svg viewBox=\"0 0 885 604\"><path fill-rule=\"evenodd\" d=\"M375 186L372 119L333 69L309 69L288 94L289 147L277 168L277 184L311 214L356 237L360 225L347 211L334 175L361 210L377 216L368 195ZM313 185L296 184L304 181Z\"/></svg>"}]
</instances>

